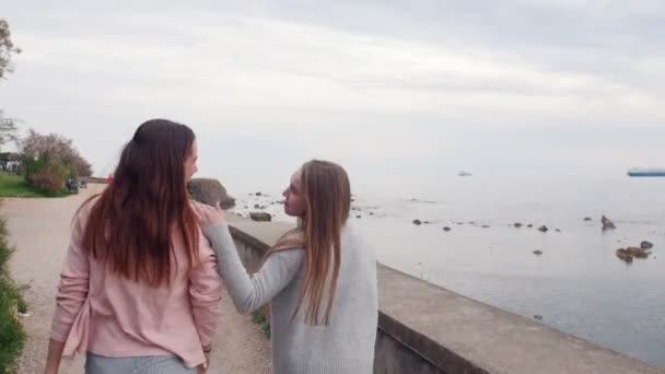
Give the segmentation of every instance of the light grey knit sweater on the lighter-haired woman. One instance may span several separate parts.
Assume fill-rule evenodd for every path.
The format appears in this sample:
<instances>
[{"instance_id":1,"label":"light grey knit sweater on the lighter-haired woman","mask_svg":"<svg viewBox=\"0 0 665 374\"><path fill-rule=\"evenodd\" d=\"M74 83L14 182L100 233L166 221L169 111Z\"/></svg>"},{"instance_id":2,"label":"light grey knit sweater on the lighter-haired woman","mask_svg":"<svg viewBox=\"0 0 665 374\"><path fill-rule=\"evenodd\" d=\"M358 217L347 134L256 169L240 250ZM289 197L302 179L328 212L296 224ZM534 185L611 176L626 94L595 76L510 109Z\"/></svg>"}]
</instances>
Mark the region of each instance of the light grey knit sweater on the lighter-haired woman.
<instances>
[{"instance_id":1,"label":"light grey knit sweater on the lighter-haired woman","mask_svg":"<svg viewBox=\"0 0 665 374\"><path fill-rule=\"evenodd\" d=\"M352 227L342 232L341 264L329 325L304 323L306 303L291 319L305 277L304 249L268 257L260 270L247 273L225 224L205 230L220 264L235 307L250 313L270 303L272 373L372 373L376 339L376 257ZM328 296L322 301L325 313Z\"/></svg>"}]
</instances>

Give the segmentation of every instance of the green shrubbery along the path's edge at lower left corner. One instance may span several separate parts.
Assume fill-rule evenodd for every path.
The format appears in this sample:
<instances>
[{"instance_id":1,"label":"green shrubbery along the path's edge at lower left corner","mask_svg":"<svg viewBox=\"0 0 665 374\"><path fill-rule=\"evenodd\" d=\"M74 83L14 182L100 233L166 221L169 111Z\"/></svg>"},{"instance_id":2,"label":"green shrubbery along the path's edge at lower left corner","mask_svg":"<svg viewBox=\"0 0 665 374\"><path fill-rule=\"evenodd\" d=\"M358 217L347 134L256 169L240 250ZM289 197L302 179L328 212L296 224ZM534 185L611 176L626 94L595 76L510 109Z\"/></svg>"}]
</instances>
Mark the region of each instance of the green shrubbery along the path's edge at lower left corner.
<instances>
[{"instance_id":1,"label":"green shrubbery along the path's edge at lower left corner","mask_svg":"<svg viewBox=\"0 0 665 374\"><path fill-rule=\"evenodd\" d=\"M25 332L14 311L27 312L21 289L9 278L8 262L14 249L8 236L7 221L0 219L0 374L16 372Z\"/></svg>"}]
</instances>

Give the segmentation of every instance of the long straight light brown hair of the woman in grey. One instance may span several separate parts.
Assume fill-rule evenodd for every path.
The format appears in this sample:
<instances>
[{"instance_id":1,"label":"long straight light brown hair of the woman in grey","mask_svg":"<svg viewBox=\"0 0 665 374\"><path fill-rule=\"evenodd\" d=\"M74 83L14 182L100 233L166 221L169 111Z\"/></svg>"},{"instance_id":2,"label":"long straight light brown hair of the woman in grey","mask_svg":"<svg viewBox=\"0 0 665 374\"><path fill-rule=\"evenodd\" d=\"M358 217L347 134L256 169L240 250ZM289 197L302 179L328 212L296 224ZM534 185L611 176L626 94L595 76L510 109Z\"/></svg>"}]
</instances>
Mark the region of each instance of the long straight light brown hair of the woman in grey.
<instances>
[{"instance_id":1,"label":"long straight light brown hair of the woman in grey","mask_svg":"<svg viewBox=\"0 0 665 374\"><path fill-rule=\"evenodd\" d=\"M351 185L347 172L328 161L310 161L302 166L301 173L305 214L299 220L299 229L283 235L271 253L304 242L306 274L293 317L306 299L305 322L322 324L319 316L327 289L323 324L328 325L339 278L341 230L351 210Z\"/></svg>"}]
</instances>

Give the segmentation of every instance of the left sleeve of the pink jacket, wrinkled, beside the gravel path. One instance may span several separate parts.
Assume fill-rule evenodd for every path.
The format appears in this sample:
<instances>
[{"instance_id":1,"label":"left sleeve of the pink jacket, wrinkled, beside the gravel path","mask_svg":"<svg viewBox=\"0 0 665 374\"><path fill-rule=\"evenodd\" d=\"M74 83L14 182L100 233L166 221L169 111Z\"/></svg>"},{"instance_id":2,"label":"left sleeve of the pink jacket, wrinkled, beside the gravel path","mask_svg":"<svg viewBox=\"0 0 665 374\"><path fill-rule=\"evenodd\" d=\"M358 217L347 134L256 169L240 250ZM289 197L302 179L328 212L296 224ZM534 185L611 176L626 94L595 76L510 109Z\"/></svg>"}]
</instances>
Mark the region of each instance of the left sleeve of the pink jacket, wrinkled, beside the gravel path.
<instances>
[{"instance_id":1,"label":"left sleeve of the pink jacket, wrinkled, beside the gravel path","mask_svg":"<svg viewBox=\"0 0 665 374\"><path fill-rule=\"evenodd\" d=\"M90 260L82 247L83 223L77 217L71 234L65 266L60 272L60 283L56 295L56 311L51 323L51 338L67 341L69 331L88 297Z\"/></svg>"}]
</instances>

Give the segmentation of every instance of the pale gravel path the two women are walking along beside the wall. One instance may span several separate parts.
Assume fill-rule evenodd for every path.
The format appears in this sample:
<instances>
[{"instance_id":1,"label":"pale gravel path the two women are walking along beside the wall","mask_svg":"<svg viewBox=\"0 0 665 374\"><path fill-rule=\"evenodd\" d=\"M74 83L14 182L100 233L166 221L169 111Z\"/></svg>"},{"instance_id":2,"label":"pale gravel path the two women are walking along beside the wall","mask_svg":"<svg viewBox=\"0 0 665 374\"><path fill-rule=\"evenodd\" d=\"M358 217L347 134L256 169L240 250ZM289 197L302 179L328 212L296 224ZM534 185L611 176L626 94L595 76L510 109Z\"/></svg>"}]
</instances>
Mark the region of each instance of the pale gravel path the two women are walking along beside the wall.
<instances>
[{"instance_id":1,"label":"pale gravel path the two women are walking along beside the wall","mask_svg":"<svg viewBox=\"0 0 665 374\"><path fill-rule=\"evenodd\" d=\"M69 245L70 222L81 202L101 185L90 185L81 195L59 199L4 199L0 212L8 218L16 252L10 271L25 291L28 316L23 322L28 335L21 359L21 374L39 374L48 346L56 284ZM248 316L238 315L228 294L223 295L220 327L213 339L209 373L269 373L270 343ZM83 373L82 360L61 373Z\"/></svg>"}]
</instances>

